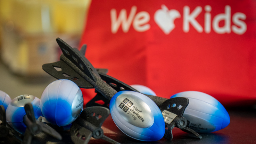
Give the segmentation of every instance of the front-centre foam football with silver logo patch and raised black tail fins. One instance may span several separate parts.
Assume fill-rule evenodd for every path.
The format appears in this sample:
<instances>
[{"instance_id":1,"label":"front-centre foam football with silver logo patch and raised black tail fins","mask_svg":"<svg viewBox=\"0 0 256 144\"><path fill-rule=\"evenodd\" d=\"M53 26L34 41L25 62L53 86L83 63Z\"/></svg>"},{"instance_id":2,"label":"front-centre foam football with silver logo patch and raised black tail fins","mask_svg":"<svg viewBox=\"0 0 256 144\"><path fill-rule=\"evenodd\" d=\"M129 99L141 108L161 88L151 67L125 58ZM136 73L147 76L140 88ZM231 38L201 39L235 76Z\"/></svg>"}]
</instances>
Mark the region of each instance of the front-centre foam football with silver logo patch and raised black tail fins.
<instances>
[{"instance_id":1,"label":"front-centre foam football with silver logo patch and raised black tail fins","mask_svg":"<svg viewBox=\"0 0 256 144\"><path fill-rule=\"evenodd\" d=\"M72 80L81 88L95 88L100 95L110 101L109 109L112 118L117 127L126 135L141 141L157 141L168 133L165 131L166 122L162 111L159 109L167 99L146 96L131 86L126 89L127 87L119 87L116 83L108 83L84 57L86 46L83 46L79 51L70 47L60 38L56 40L63 54L60 56L60 61L44 64L42 66L44 71L57 79ZM105 76L113 80L112 77ZM184 105L184 107L186 106ZM140 111L137 111L138 109ZM134 113L131 114L131 112ZM196 134L192 129L190 132ZM172 138L172 136L170 137ZM198 136L198 138L201 137Z\"/></svg>"}]
</instances>

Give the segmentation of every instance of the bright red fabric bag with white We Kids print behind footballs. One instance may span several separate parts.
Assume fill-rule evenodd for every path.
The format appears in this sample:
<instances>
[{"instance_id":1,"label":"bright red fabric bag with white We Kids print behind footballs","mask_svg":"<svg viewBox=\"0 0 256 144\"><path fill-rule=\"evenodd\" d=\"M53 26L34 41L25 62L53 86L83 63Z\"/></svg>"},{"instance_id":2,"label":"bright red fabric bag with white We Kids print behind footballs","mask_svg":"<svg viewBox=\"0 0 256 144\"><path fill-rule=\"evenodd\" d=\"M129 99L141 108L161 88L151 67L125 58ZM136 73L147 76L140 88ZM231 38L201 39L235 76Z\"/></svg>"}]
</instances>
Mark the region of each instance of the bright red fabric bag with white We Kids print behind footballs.
<instances>
[{"instance_id":1,"label":"bright red fabric bag with white We Kids print behind footballs","mask_svg":"<svg viewBox=\"0 0 256 144\"><path fill-rule=\"evenodd\" d=\"M127 84L148 86L157 96L197 90L223 105L251 104L256 100L255 8L253 0L92 0L81 45L88 44L85 56L94 67L109 69ZM130 27L127 22L128 27L121 23L113 29L111 19L125 11ZM169 22L164 32L159 23L175 14L175 28Z\"/></svg>"}]
</instances>

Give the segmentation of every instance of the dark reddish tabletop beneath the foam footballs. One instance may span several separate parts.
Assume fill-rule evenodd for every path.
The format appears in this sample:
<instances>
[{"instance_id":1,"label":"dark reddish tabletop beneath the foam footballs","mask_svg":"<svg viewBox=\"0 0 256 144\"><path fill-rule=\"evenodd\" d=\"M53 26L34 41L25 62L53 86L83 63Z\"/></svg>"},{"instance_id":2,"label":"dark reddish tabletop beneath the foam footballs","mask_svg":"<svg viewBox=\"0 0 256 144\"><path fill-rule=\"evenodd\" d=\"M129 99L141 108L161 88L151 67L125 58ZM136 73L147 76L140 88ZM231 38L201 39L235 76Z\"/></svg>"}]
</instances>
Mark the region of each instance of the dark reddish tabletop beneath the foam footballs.
<instances>
[{"instance_id":1,"label":"dark reddish tabletop beneath the foam footballs","mask_svg":"<svg viewBox=\"0 0 256 144\"><path fill-rule=\"evenodd\" d=\"M230 115L230 124L217 132L202 133L201 140L197 139L192 134L185 133L179 128L173 129L173 139L167 141L162 138L156 142L142 142L137 141L129 136L123 134L109 116L104 122L102 129L104 134L113 140L122 144L256 144L256 109L253 108L228 108L227 111ZM32 144L72 144L68 132L62 132L63 140L55 140L54 138L40 133L34 136ZM7 142L1 143L15 143L11 138ZM104 140L96 140L91 138L89 144L109 144Z\"/></svg>"}]
</instances>

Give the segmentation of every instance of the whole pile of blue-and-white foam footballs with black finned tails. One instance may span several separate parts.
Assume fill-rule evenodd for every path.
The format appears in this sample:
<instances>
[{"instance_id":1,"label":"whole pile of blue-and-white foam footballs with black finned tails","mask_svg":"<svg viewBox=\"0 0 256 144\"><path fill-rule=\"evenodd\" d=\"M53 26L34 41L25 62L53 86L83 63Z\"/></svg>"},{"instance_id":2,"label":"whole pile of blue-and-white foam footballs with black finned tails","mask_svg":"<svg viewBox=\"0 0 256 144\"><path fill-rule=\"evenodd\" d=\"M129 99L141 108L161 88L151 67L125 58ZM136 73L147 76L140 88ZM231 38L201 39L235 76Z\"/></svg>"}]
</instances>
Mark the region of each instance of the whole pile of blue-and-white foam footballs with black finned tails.
<instances>
[{"instance_id":1,"label":"whole pile of blue-and-white foam footballs with black finned tails","mask_svg":"<svg viewBox=\"0 0 256 144\"><path fill-rule=\"evenodd\" d=\"M56 40L63 51L60 61L42 68L59 80L47 86L41 99L21 95L11 100L0 91L0 137L5 142L14 137L18 143L31 143L40 132L61 141L61 131L69 130L74 144L86 144L91 137L118 144L101 128L109 114L123 133L140 141L172 140L174 127L201 139L198 133L218 131L230 123L226 109L210 95L187 91L170 99L157 97L145 86L127 85L107 75L106 69L94 68L84 56L86 45L79 51ZM85 109L80 88L97 92Z\"/></svg>"}]
</instances>

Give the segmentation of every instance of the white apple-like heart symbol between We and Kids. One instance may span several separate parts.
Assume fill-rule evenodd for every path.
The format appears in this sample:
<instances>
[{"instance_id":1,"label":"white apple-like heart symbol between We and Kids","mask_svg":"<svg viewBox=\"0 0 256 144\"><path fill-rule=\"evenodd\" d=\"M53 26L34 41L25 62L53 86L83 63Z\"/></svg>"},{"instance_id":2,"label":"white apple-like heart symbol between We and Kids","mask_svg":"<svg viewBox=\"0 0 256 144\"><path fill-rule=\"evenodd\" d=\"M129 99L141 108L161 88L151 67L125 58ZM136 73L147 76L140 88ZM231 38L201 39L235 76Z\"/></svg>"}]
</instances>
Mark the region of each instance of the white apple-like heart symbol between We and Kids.
<instances>
[{"instance_id":1,"label":"white apple-like heart symbol between We and Kids","mask_svg":"<svg viewBox=\"0 0 256 144\"><path fill-rule=\"evenodd\" d=\"M174 20L176 18L180 18L180 12L171 9L168 10L168 8L162 4L162 9L159 9L155 12L154 20L156 24L163 30L163 32L168 35L174 28Z\"/></svg>"}]
</instances>

